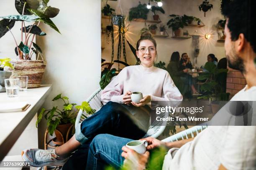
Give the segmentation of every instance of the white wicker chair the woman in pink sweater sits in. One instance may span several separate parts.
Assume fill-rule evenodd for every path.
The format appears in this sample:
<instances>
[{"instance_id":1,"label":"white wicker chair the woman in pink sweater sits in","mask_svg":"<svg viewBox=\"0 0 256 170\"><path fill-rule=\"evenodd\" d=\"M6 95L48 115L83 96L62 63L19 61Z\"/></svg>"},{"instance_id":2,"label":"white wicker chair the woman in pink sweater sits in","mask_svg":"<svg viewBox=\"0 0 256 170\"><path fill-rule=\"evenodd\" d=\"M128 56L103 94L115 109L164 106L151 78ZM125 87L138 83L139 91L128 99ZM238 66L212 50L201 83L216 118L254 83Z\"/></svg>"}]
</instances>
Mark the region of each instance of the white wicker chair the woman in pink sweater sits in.
<instances>
[{"instance_id":1,"label":"white wicker chair the woman in pink sweater sits in","mask_svg":"<svg viewBox=\"0 0 256 170\"><path fill-rule=\"evenodd\" d=\"M86 101L90 104L90 106L96 110L100 110L100 108L103 106L103 103L100 101L101 96L101 88L98 88ZM77 127L77 124L79 122L82 122L87 117L90 117L91 115L88 115L86 112L83 112L82 110L79 110L77 114L77 119L75 123L75 127ZM167 117L168 112L163 113L162 115L159 115L160 117ZM153 122L151 126L148 129L147 134L145 137L152 136L154 138L157 138L161 133L163 133L164 129L166 127L166 122L159 121L159 122Z\"/></svg>"}]
</instances>

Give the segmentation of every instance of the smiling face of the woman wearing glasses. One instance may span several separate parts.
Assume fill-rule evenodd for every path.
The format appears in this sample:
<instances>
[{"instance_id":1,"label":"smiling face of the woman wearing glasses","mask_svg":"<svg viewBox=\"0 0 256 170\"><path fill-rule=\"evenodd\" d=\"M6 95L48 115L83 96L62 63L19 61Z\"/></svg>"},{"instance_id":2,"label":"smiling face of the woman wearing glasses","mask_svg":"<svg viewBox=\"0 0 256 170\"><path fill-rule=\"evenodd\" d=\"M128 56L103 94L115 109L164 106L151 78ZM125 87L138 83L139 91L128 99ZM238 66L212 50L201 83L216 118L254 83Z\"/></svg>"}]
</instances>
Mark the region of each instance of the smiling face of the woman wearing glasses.
<instances>
[{"instance_id":1,"label":"smiling face of the woman wearing glasses","mask_svg":"<svg viewBox=\"0 0 256 170\"><path fill-rule=\"evenodd\" d=\"M137 57L144 67L151 67L156 57L156 47L151 40L142 40L136 51Z\"/></svg>"}]
</instances>

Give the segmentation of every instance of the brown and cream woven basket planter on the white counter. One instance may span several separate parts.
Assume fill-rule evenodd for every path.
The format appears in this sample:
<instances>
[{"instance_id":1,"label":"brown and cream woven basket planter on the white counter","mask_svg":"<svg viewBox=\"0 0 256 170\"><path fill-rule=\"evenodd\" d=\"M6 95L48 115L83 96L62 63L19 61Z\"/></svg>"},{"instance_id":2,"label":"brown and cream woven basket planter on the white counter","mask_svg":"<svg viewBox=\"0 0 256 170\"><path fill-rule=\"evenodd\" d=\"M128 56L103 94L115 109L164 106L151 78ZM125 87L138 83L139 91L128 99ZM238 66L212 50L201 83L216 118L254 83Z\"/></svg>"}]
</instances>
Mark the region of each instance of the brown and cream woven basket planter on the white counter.
<instances>
[{"instance_id":1,"label":"brown and cream woven basket planter on the white counter","mask_svg":"<svg viewBox=\"0 0 256 170\"><path fill-rule=\"evenodd\" d=\"M40 87L44 75L45 67L42 60L11 60L14 69L6 68L6 71L11 71L10 78L20 75L28 76L28 88Z\"/></svg>"}]
</instances>

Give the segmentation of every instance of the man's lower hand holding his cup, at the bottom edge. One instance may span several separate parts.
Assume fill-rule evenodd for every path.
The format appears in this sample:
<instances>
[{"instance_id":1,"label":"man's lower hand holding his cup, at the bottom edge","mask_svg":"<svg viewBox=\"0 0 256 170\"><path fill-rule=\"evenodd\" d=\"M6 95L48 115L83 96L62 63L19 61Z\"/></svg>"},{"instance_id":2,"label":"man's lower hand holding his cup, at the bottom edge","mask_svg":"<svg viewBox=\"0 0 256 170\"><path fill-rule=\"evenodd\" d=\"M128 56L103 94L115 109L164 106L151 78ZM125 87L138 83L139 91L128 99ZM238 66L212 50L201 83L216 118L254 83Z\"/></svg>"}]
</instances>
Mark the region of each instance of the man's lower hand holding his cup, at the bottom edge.
<instances>
[{"instance_id":1,"label":"man's lower hand holding his cup, at the bottom edge","mask_svg":"<svg viewBox=\"0 0 256 170\"><path fill-rule=\"evenodd\" d=\"M148 162L149 152L139 154L136 151L123 146L122 157L125 158L124 166L131 170L144 170Z\"/></svg>"}]
</instances>

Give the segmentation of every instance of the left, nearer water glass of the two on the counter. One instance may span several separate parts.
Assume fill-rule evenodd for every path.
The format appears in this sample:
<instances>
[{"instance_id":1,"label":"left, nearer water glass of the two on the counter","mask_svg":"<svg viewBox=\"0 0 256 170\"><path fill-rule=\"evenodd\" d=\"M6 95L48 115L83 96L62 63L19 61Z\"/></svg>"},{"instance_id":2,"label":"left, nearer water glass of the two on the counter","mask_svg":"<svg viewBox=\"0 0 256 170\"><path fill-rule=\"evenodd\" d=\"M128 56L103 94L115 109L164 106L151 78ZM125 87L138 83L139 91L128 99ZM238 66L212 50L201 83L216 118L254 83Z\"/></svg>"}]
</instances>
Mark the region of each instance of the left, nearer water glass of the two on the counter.
<instances>
[{"instance_id":1,"label":"left, nearer water glass of the two on the counter","mask_svg":"<svg viewBox=\"0 0 256 170\"><path fill-rule=\"evenodd\" d=\"M20 79L8 78L5 79L5 90L8 97L16 97L19 95Z\"/></svg>"}]
</instances>

